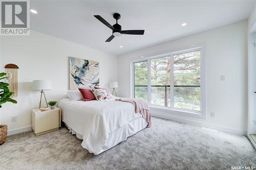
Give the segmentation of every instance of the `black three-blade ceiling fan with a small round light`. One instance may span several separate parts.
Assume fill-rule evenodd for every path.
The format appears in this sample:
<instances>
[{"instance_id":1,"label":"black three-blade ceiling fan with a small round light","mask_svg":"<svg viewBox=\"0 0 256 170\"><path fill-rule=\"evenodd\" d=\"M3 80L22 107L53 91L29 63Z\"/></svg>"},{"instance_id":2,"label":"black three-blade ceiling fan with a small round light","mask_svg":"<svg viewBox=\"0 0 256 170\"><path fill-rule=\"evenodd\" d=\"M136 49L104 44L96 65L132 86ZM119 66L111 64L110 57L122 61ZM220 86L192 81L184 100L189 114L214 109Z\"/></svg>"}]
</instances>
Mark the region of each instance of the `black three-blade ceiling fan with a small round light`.
<instances>
[{"instance_id":1,"label":"black three-blade ceiling fan with a small round light","mask_svg":"<svg viewBox=\"0 0 256 170\"><path fill-rule=\"evenodd\" d=\"M116 19L116 23L111 26L109 22L107 22L105 19L103 19L99 15L94 15L95 18L97 18L100 22L102 22L106 27L109 27L113 34L105 40L105 42L110 42L113 38L119 37L122 34L132 34L132 35L143 35L145 30L122 30L122 27L117 23L117 20L120 19L120 14L114 13L113 17Z\"/></svg>"}]
</instances>

